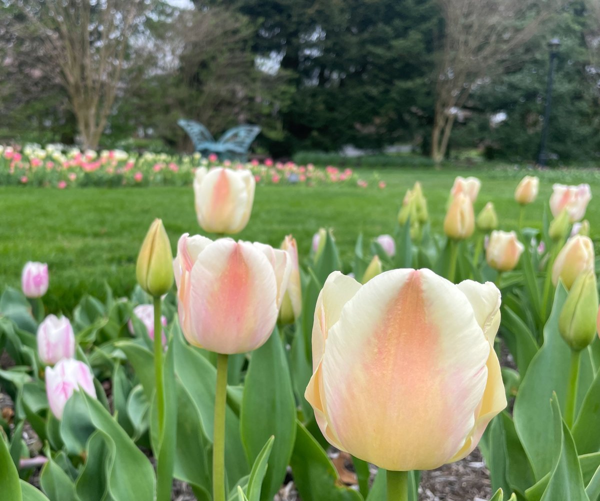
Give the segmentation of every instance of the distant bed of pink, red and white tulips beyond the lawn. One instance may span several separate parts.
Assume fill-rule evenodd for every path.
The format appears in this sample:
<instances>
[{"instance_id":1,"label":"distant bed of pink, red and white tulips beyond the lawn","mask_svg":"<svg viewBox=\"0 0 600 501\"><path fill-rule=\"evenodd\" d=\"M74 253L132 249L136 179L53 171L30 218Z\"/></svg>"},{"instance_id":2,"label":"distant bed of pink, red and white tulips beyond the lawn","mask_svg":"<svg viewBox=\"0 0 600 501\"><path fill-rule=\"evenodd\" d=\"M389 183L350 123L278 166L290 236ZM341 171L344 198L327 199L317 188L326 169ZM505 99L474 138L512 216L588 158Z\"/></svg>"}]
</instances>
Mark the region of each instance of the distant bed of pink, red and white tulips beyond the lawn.
<instances>
[{"instance_id":1,"label":"distant bed of pink, red and white tulips beyond the lawn","mask_svg":"<svg viewBox=\"0 0 600 501\"><path fill-rule=\"evenodd\" d=\"M0 185L54 187L61 190L79 186L186 186L190 185L199 167L218 163L216 155L203 158L192 155L167 155L122 150L80 151L62 145L45 148L26 145L23 148L0 145ZM352 169L325 169L313 164L274 162L267 158L248 163L225 161L224 166L247 170L258 184L351 184L365 188L368 182L359 179ZM385 188L385 182L373 185Z\"/></svg>"}]
</instances>

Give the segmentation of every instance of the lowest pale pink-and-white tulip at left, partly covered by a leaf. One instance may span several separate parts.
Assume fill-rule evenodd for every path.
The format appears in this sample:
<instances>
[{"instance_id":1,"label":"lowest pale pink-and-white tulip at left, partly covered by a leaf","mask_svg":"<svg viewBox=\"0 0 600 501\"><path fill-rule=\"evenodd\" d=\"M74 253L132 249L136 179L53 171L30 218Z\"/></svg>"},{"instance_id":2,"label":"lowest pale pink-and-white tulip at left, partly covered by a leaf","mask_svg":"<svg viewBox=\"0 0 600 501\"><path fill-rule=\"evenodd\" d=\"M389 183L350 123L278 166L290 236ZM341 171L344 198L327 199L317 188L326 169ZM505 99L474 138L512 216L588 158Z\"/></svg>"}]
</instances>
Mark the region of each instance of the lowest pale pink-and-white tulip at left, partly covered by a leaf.
<instances>
[{"instance_id":1,"label":"lowest pale pink-and-white tulip at left, partly covered by a leaf","mask_svg":"<svg viewBox=\"0 0 600 501\"><path fill-rule=\"evenodd\" d=\"M57 419L62 419L67 400L79 389L96 398L94 376L86 364L73 358L64 358L54 367L46 367L46 395L50 410Z\"/></svg>"}]
</instances>

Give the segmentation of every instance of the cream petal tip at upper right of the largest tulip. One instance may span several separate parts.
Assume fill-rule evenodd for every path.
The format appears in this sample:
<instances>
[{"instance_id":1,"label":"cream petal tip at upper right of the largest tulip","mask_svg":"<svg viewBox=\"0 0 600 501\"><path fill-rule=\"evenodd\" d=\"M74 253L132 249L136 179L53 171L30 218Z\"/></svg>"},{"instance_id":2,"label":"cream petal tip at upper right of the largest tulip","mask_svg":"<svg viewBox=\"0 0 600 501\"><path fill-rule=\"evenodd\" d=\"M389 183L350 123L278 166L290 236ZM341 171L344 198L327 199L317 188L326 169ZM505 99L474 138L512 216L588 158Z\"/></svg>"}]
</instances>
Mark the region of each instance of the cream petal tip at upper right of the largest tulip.
<instances>
[{"instance_id":1,"label":"cream petal tip at upper right of the largest tulip","mask_svg":"<svg viewBox=\"0 0 600 501\"><path fill-rule=\"evenodd\" d=\"M469 299L477 323L493 344L500 327L500 290L491 282L480 284L473 280L464 280L457 287Z\"/></svg>"}]
</instances>

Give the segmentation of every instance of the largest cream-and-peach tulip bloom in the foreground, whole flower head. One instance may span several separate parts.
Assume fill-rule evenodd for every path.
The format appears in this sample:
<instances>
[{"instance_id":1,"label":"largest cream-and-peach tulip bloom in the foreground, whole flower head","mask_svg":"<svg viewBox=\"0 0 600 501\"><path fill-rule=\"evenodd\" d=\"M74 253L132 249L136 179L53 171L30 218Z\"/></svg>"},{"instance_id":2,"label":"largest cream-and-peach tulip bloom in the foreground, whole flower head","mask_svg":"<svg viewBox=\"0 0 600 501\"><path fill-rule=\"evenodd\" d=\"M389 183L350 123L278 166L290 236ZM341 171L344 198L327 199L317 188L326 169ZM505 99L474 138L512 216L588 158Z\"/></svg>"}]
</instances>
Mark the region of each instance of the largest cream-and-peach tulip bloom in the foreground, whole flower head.
<instances>
[{"instance_id":1,"label":"largest cream-and-peach tulip bloom in the foreground, whole flower head","mask_svg":"<svg viewBox=\"0 0 600 501\"><path fill-rule=\"evenodd\" d=\"M317 299L305 392L323 436L394 471L466 457L506 407L499 308L489 282L394 269L361 286L333 272Z\"/></svg>"}]
</instances>

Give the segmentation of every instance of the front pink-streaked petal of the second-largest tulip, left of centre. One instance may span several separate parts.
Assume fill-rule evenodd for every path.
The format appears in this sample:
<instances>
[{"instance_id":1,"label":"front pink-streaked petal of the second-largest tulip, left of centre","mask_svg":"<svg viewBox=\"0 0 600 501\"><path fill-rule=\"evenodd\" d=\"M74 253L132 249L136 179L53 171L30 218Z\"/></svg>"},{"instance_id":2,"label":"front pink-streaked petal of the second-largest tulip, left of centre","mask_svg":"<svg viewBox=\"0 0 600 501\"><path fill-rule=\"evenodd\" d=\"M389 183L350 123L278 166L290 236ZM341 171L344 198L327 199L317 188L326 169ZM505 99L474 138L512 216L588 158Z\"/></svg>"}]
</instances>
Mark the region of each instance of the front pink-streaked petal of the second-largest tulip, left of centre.
<instances>
[{"instance_id":1,"label":"front pink-streaked petal of the second-largest tulip, left of centre","mask_svg":"<svg viewBox=\"0 0 600 501\"><path fill-rule=\"evenodd\" d=\"M231 354L268 339L277 320L277 281L254 245L226 238L208 245L194 263L189 287L184 334L190 343Z\"/></svg>"}]
</instances>

